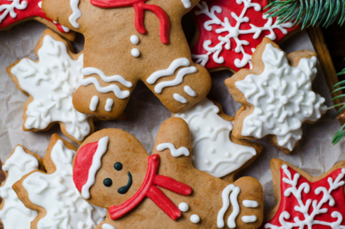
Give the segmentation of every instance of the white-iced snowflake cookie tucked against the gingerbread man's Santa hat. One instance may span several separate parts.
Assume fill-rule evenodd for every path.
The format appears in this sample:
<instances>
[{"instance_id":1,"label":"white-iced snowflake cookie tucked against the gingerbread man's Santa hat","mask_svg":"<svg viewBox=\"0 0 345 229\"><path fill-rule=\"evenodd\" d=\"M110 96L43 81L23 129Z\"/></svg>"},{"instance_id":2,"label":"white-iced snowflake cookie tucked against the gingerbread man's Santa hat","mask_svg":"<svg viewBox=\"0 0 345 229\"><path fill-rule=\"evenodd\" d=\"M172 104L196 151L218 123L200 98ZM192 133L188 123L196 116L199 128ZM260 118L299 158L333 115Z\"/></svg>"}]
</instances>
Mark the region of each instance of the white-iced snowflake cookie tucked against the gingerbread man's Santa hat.
<instances>
[{"instance_id":1,"label":"white-iced snowflake cookie tucked against the gingerbread man's Santa hat","mask_svg":"<svg viewBox=\"0 0 345 229\"><path fill-rule=\"evenodd\" d=\"M106 209L88 204L75 188L74 155L75 147L54 134L43 160L46 172L34 170L12 186L23 204L38 212L31 228L95 228L106 216Z\"/></svg>"}]
</instances>

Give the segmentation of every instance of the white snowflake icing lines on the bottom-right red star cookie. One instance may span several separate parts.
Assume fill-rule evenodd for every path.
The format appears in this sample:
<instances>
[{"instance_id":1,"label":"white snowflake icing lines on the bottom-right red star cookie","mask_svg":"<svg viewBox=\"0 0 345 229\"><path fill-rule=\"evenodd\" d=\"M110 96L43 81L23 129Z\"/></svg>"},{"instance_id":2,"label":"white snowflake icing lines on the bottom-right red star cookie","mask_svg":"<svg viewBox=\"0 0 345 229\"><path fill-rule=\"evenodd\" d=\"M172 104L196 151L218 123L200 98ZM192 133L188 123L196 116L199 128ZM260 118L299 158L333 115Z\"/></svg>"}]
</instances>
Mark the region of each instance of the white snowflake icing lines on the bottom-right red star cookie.
<instances>
[{"instance_id":1,"label":"white snowflake icing lines on the bottom-right red star cookie","mask_svg":"<svg viewBox=\"0 0 345 229\"><path fill-rule=\"evenodd\" d=\"M319 195L320 193L323 193L322 199L317 203L316 199L307 199L307 201L304 204L304 201L302 201L302 192L309 193L311 190L311 186L304 182L300 184L297 188L298 179L300 177L299 173L295 173L295 175L292 177L290 171L288 171L288 166L284 164L282 166L283 171L285 175L287 176L282 179L282 182L286 184L290 184L291 187L287 188L284 192L285 197L289 197L291 194L297 199L298 206L295 206L293 210L296 212L300 212L304 216L304 220L300 220L299 217L295 217L293 222L287 222L285 219L290 219L290 214L287 211L282 212L281 215L279 215L279 223L282 226L276 226L271 223L266 223L265 228L271 228L271 229L292 229L292 228L305 228L308 227L308 229L311 229L314 225L324 225L329 226L333 229L344 229L345 226L340 225L343 221L343 216L340 212L333 211L331 213L331 217L337 219L333 222L327 222L327 221L319 221L315 220L315 216L328 212L328 208L322 208L324 204L328 202L329 206L335 205L335 200L333 199L331 193L333 190L339 188L340 186L344 186L344 174L345 169L342 168L342 173L340 173L337 178L333 181L332 177L328 177L327 181L329 184L329 188L325 188L322 186L319 186L315 189L315 194ZM313 211L311 213L308 213L310 208L313 208Z\"/></svg>"}]
</instances>

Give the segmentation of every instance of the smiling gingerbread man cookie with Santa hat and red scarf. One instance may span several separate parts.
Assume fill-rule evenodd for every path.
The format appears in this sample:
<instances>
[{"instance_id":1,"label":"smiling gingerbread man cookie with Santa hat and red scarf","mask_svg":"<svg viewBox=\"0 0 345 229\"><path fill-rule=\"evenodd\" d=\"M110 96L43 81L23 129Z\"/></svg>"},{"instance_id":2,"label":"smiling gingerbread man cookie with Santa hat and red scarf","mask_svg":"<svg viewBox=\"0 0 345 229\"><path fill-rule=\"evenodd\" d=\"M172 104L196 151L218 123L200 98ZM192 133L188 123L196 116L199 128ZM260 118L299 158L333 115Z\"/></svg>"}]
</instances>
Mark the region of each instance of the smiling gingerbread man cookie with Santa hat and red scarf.
<instances>
[{"instance_id":1,"label":"smiling gingerbread man cookie with Santa hat and red scarf","mask_svg":"<svg viewBox=\"0 0 345 229\"><path fill-rule=\"evenodd\" d=\"M161 125L152 155L120 129L93 133L75 156L73 179L84 199L108 209L97 229L258 228L262 186L252 177L231 184L191 163L188 125Z\"/></svg>"}]
</instances>

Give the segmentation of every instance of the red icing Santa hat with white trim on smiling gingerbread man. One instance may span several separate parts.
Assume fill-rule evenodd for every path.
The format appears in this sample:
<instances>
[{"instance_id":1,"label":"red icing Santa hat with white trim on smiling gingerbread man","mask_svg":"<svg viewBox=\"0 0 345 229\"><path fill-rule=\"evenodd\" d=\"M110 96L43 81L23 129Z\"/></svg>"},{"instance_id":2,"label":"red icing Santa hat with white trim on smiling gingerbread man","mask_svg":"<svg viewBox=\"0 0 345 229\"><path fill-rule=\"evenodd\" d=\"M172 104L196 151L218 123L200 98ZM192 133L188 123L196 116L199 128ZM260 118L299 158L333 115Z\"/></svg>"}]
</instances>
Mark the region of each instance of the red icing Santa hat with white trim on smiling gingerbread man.
<instances>
[{"instance_id":1,"label":"red icing Santa hat with white trim on smiling gingerbread man","mask_svg":"<svg viewBox=\"0 0 345 229\"><path fill-rule=\"evenodd\" d=\"M90 198L90 187L95 184L95 175L101 168L101 157L107 151L109 137L103 137L98 142L86 144L75 157L73 181L85 199Z\"/></svg>"}]
</instances>

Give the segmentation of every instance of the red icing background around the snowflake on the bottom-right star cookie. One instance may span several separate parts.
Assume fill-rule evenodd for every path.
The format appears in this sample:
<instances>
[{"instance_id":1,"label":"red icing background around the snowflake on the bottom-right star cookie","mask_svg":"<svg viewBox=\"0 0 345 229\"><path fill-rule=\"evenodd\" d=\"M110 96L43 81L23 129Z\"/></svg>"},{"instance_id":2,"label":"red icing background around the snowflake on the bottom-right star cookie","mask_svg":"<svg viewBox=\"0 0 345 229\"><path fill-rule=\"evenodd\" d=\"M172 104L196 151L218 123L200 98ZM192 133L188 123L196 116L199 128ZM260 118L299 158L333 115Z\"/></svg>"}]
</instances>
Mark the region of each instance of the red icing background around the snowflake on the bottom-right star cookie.
<instances>
[{"instance_id":1,"label":"red icing background around the snowflake on the bottom-right star cookie","mask_svg":"<svg viewBox=\"0 0 345 229\"><path fill-rule=\"evenodd\" d=\"M296 171L294 171L292 168L288 167L288 171L290 171L291 173L291 177L294 177L294 175L297 173ZM306 201L308 199L313 200L317 200L317 203L319 203L319 201L322 199L322 197L324 196L324 193L319 193L319 195L315 194L315 189L318 187L324 187L328 190L328 188L330 187L328 184L328 178L331 177L333 179L333 181L337 178L337 176L342 173L342 168L339 168L335 171L333 171L331 174L329 174L327 177L324 177L323 179L320 179L317 182L309 182L306 178L302 177L302 175L299 177L298 182L297 182L297 188L299 188L299 186L306 182L307 184L309 184L309 186L311 187L311 189L309 190L308 193L304 193L304 191L302 191L302 201L304 204L306 204ZM284 192L287 188L290 188L291 185L290 184L286 184L285 182L283 182L283 178L287 178L286 174L284 173L283 169L280 169L280 175L281 175L281 182L280 182L280 186L281 186L281 200L280 200L280 204L279 204L279 208L277 210L277 212L275 213L275 216L273 217L273 219L271 219L270 221L267 221L265 223L262 224L262 226L259 229L264 229L266 223L271 223L275 226L282 226L281 223L279 222L279 215L282 214L282 212L286 211L290 214L290 218L289 219L284 219L287 222L293 222L295 221L295 217L299 217L299 219L301 221L303 221L304 215L301 212L297 212L295 210L295 206L299 206L297 199L293 196L293 194L291 193L288 197L284 196ZM343 179L344 180L344 177ZM335 205L334 206L330 206L329 202L327 201L325 204L322 205L322 208L325 208L327 210L327 212L324 213L320 213L318 215L315 215L314 220L317 221L326 221L326 222L334 222L337 220L337 218L333 218L331 216L332 212L337 211L340 212L340 214L344 217L345 216L345 196L344 196L344 186L339 186L337 189L333 190L331 193L331 196L334 198L335 200ZM311 212L313 212L313 206L311 204L311 206L308 208L308 214L311 214ZM345 226L345 221L344 219L342 220L342 223L340 224L342 226ZM270 227L268 227L270 228ZM298 227L294 227L294 228L298 228ZM304 227L306 228L306 227ZM312 226L313 229L331 229L330 226L325 226L325 225L319 225L319 224L314 224Z\"/></svg>"}]
</instances>

